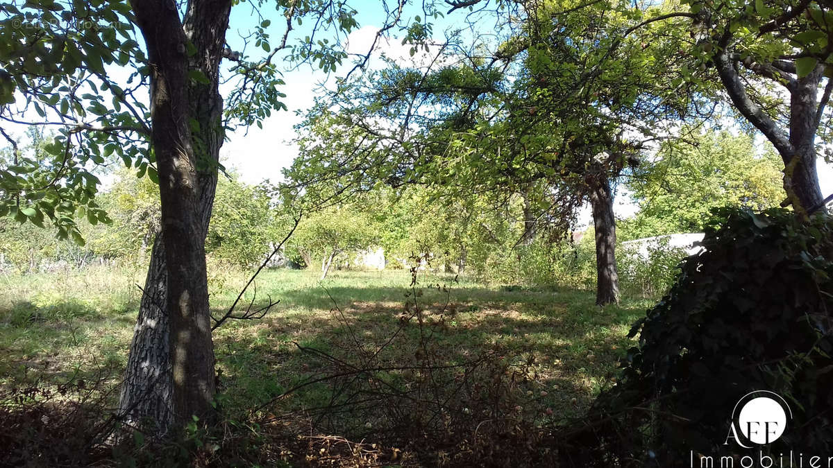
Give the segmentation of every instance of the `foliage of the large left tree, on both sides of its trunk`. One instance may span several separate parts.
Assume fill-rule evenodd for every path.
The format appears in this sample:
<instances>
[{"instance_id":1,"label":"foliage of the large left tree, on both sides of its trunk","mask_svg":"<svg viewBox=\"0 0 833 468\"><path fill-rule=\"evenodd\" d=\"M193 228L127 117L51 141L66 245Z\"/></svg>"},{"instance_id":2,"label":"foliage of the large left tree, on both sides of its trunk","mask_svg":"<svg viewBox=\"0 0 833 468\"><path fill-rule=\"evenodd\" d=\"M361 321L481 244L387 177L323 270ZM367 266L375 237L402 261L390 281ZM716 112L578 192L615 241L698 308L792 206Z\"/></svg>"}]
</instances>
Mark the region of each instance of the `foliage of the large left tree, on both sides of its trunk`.
<instances>
[{"instance_id":1,"label":"foliage of the large left tree, on both sides of its trunk","mask_svg":"<svg viewBox=\"0 0 833 468\"><path fill-rule=\"evenodd\" d=\"M202 112L188 122L192 146L201 155L207 139L222 141L227 130L262 126L272 111L287 109L282 102L283 61L314 62L324 72L335 72L347 58L342 34L359 26L357 9L347 2L277 2L273 13L289 22L275 25L262 18L262 2L233 3L235 9L257 11L256 22L235 26L247 30L246 42L251 38L256 49L224 55L233 65L221 66L218 77L217 63L191 61L190 86L229 85L222 119L201 121L207 114ZM195 5L182 5L185 22ZM206 8L215 7L222 11L219 5ZM196 9L204 12L198 5ZM431 5L423 5L421 11L436 14ZM386 17L386 29L400 22L401 13ZM304 21L312 27L300 28ZM416 34L417 23L422 31L431 31L430 24L417 20L410 42L424 39ZM270 27L282 28L281 38L276 40ZM186 29L186 36L194 33ZM301 35L290 34L299 29ZM0 154L0 217L39 227L51 222L61 238L71 236L83 243L77 220L107 222L93 200L99 185L97 167L119 161L138 177L158 183L147 108L151 64L139 36L132 5L121 0L0 2L0 121L57 129L56 135L37 142L37 152L17 151L9 127L0 130L3 141L13 147ZM182 45L188 56L204 52L192 42ZM216 173L217 167L216 161L208 161L198 169ZM244 256L237 261L251 258Z\"/></svg>"}]
</instances>

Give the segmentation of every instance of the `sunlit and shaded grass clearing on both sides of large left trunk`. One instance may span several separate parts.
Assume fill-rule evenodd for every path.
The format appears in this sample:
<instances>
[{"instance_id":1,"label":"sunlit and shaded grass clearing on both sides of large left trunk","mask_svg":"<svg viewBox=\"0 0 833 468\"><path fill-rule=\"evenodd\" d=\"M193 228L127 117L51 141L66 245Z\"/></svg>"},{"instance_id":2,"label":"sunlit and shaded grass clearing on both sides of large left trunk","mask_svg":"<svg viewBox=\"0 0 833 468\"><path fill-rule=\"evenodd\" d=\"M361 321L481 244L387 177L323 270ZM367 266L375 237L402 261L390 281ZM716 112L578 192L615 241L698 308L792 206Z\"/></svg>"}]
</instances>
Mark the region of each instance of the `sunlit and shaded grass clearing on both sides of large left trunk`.
<instances>
[{"instance_id":1,"label":"sunlit and shaded grass clearing on both sides of large left trunk","mask_svg":"<svg viewBox=\"0 0 833 468\"><path fill-rule=\"evenodd\" d=\"M212 310L220 315L247 273L209 276ZM117 386L142 280L139 268L111 266L0 276L0 387L97 374ZM242 414L324 371L319 357L297 345L349 361L357 342L375 350L402 327L380 359L415 361L418 326L402 326L405 303L415 301L410 282L407 271L333 271L323 282L317 271L263 272L256 304L267 296L280 303L262 320L228 321L215 331L223 407ZM554 409L552 417L580 416L611 384L616 362L632 344L627 331L649 306L626 299L600 308L590 291L455 282L431 273L420 274L415 291L436 330L431 340L438 353L453 363L501 349L526 361L532 370L527 393L534 389L529 400ZM326 383L307 386L271 411L320 406L329 391Z\"/></svg>"}]
</instances>

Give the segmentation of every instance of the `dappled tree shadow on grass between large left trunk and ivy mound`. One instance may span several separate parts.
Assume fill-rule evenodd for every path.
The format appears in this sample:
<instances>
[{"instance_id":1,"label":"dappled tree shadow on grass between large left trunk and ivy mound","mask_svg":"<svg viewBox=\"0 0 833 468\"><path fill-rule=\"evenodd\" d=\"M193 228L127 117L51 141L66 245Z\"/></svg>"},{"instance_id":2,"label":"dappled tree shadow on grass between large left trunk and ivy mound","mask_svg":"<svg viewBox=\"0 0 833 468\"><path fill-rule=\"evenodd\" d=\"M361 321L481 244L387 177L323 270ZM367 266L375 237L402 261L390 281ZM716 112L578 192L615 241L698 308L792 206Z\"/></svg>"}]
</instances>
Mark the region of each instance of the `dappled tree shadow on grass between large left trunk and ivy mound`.
<instances>
[{"instance_id":1,"label":"dappled tree shadow on grass between large left trunk and ivy mound","mask_svg":"<svg viewBox=\"0 0 833 468\"><path fill-rule=\"evenodd\" d=\"M284 291L282 302L258 323L237 322L215 338L225 369L230 406L262 404L302 381L332 371L322 351L361 366L379 353L385 366L419 366L429 346L442 364L461 364L486 352L508 362L531 362L531 404L580 416L631 346L631 323L640 302L599 308L591 294L575 291L495 291L461 287L420 289L423 326L412 316L413 291L402 287L322 287ZM408 295L408 296L406 296ZM312 309L312 310L311 310ZM393 338L392 338L393 337ZM382 349L382 351L379 351ZM431 352L431 351L429 351ZM309 386L287 399L284 410L320 406L332 388Z\"/></svg>"}]
</instances>

